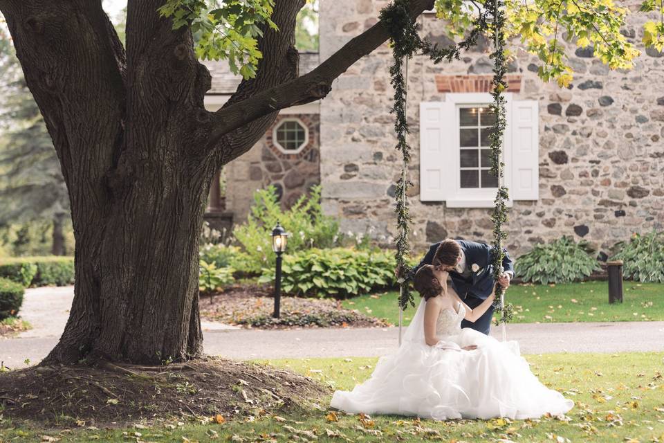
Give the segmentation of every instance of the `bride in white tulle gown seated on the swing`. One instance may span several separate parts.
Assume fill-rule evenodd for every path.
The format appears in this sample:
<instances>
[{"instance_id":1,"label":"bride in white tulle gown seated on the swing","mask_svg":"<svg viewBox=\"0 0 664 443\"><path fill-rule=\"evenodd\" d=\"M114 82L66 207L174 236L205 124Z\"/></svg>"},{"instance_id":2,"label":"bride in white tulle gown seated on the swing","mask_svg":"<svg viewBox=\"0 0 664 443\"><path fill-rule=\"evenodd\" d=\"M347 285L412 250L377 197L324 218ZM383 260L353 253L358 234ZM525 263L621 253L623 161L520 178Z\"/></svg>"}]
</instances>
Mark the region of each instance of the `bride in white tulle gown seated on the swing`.
<instances>
[{"instance_id":1,"label":"bride in white tulle gown seated on the swing","mask_svg":"<svg viewBox=\"0 0 664 443\"><path fill-rule=\"evenodd\" d=\"M540 383L516 341L461 329L463 318L472 322L486 312L495 293L470 309L448 289L447 278L432 265L417 271L414 286L423 300L403 344L380 358L365 383L334 392L331 406L348 413L438 420L526 419L570 410L573 401Z\"/></svg>"}]
</instances>

